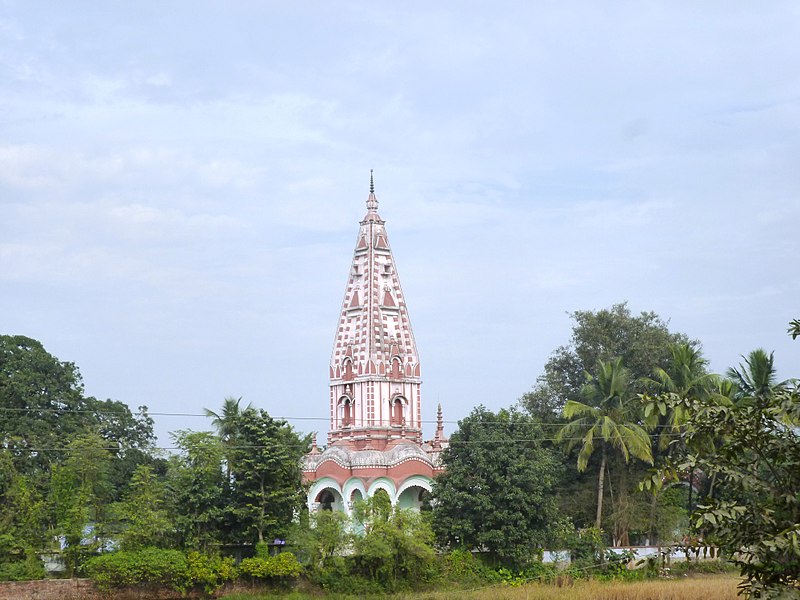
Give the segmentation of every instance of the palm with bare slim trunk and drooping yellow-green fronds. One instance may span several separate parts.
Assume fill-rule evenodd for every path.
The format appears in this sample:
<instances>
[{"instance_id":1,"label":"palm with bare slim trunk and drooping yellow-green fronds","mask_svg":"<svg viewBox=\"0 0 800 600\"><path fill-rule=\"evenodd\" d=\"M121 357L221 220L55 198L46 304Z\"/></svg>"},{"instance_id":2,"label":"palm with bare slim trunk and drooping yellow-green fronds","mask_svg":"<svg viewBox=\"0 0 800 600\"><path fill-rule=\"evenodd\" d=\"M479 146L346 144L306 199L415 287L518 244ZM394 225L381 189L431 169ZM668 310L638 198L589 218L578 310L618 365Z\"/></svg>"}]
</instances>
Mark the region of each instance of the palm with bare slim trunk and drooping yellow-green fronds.
<instances>
[{"instance_id":1,"label":"palm with bare slim trunk and drooping yellow-green fronds","mask_svg":"<svg viewBox=\"0 0 800 600\"><path fill-rule=\"evenodd\" d=\"M622 359L597 362L597 376L587 373L581 389L586 404L568 400L564 416L571 419L558 432L556 439L565 441L567 449L580 444L578 470L585 471L596 446L600 447L600 469L597 477L597 517L600 529L603 519L603 483L609 447L617 449L625 459L638 458L653 464L650 437L638 423L636 407L628 385L628 371Z\"/></svg>"}]
</instances>

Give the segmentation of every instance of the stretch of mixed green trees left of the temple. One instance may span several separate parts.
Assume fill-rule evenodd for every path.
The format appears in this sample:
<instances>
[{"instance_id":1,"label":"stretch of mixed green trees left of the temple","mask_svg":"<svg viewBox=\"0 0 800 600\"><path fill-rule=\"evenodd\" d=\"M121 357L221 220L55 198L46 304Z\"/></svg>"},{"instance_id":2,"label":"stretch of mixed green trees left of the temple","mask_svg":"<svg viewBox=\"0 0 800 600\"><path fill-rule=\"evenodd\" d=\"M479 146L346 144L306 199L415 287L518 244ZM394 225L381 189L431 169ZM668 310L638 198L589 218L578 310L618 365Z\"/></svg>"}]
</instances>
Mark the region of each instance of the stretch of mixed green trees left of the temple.
<instances>
[{"instance_id":1,"label":"stretch of mixed green trees left of the temple","mask_svg":"<svg viewBox=\"0 0 800 600\"><path fill-rule=\"evenodd\" d=\"M86 397L74 364L0 337L0 576L42 576L46 552L72 576L115 549L207 554L285 537L309 437L233 400L214 423L173 433L179 451L165 456L146 407Z\"/></svg>"}]
</instances>

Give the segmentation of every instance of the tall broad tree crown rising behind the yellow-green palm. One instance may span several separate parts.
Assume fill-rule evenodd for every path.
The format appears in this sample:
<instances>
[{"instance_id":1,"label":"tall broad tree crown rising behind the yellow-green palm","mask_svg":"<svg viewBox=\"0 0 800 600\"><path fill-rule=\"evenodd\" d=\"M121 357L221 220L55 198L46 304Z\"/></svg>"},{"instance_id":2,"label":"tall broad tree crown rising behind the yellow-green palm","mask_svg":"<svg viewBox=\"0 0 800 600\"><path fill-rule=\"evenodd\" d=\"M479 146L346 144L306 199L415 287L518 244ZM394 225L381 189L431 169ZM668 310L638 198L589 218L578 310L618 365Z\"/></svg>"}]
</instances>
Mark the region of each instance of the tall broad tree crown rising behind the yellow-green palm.
<instances>
[{"instance_id":1,"label":"tall broad tree crown rising behind the yellow-green palm","mask_svg":"<svg viewBox=\"0 0 800 600\"><path fill-rule=\"evenodd\" d=\"M673 344L689 341L684 334L670 332L668 322L654 312L632 315L625 302L596 312L575 311L570 316L569 344L553 351L534 389L520 399L523 407L544 422L557 421L567 400L580 397L584 374L592 372L598 360L621 358L636 385L657 368L668 367Z\"/></svg>"}]
</instances>

